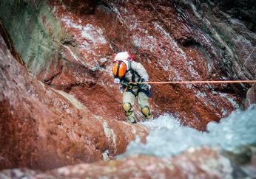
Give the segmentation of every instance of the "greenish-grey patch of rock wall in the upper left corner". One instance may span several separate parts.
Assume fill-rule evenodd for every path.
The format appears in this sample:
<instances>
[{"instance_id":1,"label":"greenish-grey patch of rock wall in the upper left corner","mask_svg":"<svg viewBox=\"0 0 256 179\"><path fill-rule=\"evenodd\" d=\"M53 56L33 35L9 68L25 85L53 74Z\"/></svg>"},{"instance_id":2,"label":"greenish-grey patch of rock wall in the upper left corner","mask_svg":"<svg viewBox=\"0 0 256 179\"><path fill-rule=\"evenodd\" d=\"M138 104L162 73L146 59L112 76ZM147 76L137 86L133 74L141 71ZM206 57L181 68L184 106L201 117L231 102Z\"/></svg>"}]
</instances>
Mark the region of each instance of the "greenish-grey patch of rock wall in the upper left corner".
<instances>
[{"instance_id":1,"label":"greenish-grey patch of rock wall in the upper left corner","mask_svg":"<svg viewBox=\"0 0 256 179\"><path fill-rule=\"evenodd\" d=\"M3 0L0 18L28 70L34 75L48 70L65 33L47 1Z\"/></svg>"}]
</instances>

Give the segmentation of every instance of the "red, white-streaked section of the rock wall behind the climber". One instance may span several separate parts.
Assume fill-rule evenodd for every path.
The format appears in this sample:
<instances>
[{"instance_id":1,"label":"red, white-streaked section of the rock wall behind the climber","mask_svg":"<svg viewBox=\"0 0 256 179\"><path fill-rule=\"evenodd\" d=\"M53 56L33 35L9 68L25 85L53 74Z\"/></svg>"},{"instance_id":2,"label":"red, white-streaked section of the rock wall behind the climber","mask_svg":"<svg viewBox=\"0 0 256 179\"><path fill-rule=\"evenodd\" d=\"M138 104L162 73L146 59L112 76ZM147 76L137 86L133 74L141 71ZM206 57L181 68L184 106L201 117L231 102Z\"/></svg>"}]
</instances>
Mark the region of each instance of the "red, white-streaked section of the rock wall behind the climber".
<instances>
[{"instance_id":1,"label":"red, white-streaked section of the rock wall behind the climber","mask_svg":"<svg viewBox=\"0 0 256 179\"><path fill-rule=\"evenodd\" d=\"M62 66L49 84L70 92L84 105L92 103L87 105L92 113L124 119L120 114L121 95L111 77L111 57L115 52L129 50L137 55L152 81L229 77L224 69L219 69L215 56L207 55L218 49L214 40L189 27L188 18L195 15L181 17L173 3L104 1L93 5L90 14L81 14L78 7L67 7L75 2L50 1L52 12L71 39L64 43L58 60L68 60L68 65ZM153 85L152 93L155 116L172 113L183 124L198 130L205 130L208 122L227 116L240 104L239 95L229 84Z\"/></svg>"}]
</instances>

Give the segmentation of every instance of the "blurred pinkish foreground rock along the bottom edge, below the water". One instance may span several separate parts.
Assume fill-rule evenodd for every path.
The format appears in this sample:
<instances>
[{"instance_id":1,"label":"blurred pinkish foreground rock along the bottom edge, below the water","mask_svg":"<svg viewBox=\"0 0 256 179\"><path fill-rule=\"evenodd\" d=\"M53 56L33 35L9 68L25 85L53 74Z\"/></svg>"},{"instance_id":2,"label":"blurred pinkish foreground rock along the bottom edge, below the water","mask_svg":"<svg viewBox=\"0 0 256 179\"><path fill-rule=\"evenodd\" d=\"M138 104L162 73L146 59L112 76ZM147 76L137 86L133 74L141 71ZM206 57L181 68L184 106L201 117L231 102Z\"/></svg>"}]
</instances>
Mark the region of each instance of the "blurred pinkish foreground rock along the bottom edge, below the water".
<instances>
[{"instance_id":1,"label":"blurred pinkish foreground rock along the bottom edge, below the water","mask_svg":"<svg viewBox=\"0 0 256 179\"><path fill-rule=\"evenodd\" d=\"M253 161L255 162L255 161ZM252 162L252 163L253 163ZM251 167L251 168L250 168ZM93 164L77 164L47 172L30 169L7 169L1 178L246 178L253 165L231 164L218 150L191 148L174 158L137 155Z\"/></svg>"}]
</instances>

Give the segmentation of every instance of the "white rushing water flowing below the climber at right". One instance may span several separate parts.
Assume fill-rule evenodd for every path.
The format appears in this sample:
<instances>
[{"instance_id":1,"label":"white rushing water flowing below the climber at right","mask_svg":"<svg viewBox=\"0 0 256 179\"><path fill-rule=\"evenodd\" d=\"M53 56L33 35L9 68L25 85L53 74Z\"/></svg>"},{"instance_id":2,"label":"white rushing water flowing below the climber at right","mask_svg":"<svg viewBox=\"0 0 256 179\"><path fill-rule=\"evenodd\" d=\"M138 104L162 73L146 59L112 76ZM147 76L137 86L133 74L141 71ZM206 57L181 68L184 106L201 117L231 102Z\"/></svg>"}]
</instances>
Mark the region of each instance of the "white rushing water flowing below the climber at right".
<instances>
[{"instance_id":1,"label":"white rushing water flowing below the climber at right","mask_svg":"<svg viewBox=\"0 0 256 179\"><path fill-rule=\"evenodd\" d=\"M203 146L236 152L240 147L256 144L256 105L245 111L235 110L218 123L209 122L207 132L181 126L178 119L169 114L160 116L153 122L141 124L150 130L146 144L141 143L139 138L132 141L127 147L127 152L119 158L135 154L168 157L189 147Z\"/></svg>"}]
</instances>

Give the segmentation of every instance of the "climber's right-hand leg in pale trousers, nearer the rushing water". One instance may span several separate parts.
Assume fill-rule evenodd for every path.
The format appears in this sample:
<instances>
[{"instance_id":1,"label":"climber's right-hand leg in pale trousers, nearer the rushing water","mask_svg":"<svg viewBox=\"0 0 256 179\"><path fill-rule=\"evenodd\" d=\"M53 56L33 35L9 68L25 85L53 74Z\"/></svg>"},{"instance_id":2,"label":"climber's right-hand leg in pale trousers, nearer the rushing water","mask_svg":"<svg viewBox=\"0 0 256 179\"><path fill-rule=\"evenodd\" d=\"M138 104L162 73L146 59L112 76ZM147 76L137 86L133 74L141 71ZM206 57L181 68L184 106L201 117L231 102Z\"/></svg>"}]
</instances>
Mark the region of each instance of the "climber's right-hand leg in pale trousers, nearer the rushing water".
<instances>
[{"instance_id":1,"label":"climber's right-hand leg in pale trousers, nearer the rushing water","mask_svg":"<svg viewBox=\"0 0 256 179\"><path fill-rule=\"evenodd\" d=\"M145 116L146 120L152 121L153 115L149 108L149 97L144 92L138 93L138 106L141 109L141 113Z\"/></svg>"}]
</instances>

